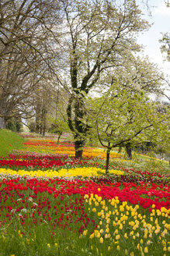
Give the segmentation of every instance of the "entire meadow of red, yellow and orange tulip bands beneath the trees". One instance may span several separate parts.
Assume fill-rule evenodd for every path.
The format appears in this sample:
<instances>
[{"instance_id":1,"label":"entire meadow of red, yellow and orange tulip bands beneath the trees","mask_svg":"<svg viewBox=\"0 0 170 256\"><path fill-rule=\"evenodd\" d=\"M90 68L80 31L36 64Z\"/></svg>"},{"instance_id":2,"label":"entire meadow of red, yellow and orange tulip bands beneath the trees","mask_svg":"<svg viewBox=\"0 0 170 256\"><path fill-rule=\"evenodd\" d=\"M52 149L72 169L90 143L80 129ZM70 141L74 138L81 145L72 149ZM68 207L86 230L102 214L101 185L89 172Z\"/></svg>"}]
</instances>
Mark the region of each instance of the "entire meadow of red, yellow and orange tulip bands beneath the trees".
<instances>
[{"instance_id":1,"label":"entire meadow of red, yellow and orange tulip bands beneath the trees","mask_svg":"<svg viewBox=\"0 0 170 256\"><path fill-rule=\"evenodd\" d=\"M111 160L106 176L102 149L75 160L51 138L24 147L0 158L0 255L169 255L168 173Z\"/></svg>"}]
</instances>

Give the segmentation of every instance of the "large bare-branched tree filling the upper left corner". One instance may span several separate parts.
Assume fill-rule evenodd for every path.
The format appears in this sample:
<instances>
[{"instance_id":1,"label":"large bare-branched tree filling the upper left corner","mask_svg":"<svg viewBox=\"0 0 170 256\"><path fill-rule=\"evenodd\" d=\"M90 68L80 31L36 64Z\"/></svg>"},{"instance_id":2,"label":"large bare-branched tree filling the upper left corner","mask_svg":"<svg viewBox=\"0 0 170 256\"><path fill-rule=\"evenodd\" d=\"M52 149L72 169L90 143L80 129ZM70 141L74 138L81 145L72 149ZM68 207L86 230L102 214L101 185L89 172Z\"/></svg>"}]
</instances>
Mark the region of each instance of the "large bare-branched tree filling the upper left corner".
<instances>
[{"instance_id":1,"label":"large bare-branched tree filling the upper left corner","mask_svg":"<svg viewBox=\"0 0 170 256\"><path fill-rule=\"evenodd\" d=\"M36 80L50 68L57 9L54 0L0 2L0 128L16 109L26 113Z\"/></svg>"}]
</instances>

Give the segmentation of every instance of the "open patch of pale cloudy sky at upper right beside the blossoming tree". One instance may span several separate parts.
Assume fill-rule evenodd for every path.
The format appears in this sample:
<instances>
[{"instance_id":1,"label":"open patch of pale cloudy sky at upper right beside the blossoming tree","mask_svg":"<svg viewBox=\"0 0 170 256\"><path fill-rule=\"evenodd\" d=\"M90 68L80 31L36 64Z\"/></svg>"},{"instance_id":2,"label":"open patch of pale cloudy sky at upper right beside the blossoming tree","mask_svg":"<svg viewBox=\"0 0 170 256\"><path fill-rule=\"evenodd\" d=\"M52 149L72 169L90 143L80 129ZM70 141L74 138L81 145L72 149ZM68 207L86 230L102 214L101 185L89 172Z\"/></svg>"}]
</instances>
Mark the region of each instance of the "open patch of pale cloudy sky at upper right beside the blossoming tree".
<instances>
[{"instance_id":1,"label":"open patch of pale cloudy sky at upper right beside the blossoming tree","mask_svg":"<svg viewBox=\"0 0 170 256\"><path fill-rule=\"evenodd\" d=\"M165 56L162 55L160 47L161 33L170 32L170 6L167 7L164 0L147 0L151 16L147 8L141 5L144 19L153 23L151 28L139 34L137 42L144 45L144 55L148 55L151 62L158 64L163 73L170 75L170 62L164 61Z\"/></svg>"}]
</instances>

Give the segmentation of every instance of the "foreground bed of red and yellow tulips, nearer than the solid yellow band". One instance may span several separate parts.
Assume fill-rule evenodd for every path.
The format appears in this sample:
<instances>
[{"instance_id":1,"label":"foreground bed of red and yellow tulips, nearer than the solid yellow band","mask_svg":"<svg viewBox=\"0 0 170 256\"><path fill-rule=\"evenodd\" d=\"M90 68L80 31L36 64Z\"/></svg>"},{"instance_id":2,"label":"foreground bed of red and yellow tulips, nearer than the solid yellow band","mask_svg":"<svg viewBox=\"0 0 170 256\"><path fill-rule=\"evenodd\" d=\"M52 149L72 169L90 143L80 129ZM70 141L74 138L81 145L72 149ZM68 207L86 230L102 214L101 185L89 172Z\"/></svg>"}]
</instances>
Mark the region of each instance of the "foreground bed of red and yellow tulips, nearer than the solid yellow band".
<instances>
[{"instance_id":1,"label":"foreground bed of red and yellow tulips, nearer than the solid yellow band","mask_svg":"<svg viewBox=\"0 0 170 256\"><path fill-rule=\"evenodd\" d=\"M76 243L81 244L75 247L75 243L68 243L66 251L71 255L74 255L72 251L96 255L137 255L141 252L163 255L169 250L168 187L19 176L15 179L6 176L0 187L2 247L10 244L13 228L13 235L23 243L25 251L38 243L40 229L48 230L50 235L45 234L43 244L45 254L61 250L61 233L69 237L74 233ZM147 195L143 201L141 194ZM16 245L10 253L17 255Z\"/></svg>"}]
</instances>

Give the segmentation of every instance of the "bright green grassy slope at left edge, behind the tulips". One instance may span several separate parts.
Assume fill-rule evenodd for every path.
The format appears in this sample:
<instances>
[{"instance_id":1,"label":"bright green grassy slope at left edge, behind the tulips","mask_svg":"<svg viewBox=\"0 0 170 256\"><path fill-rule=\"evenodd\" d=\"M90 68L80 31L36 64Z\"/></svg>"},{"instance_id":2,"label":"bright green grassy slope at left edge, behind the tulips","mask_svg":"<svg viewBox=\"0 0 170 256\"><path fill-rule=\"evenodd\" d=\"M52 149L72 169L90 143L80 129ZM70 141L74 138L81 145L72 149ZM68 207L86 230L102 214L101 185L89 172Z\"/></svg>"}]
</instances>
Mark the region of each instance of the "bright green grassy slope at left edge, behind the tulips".
<instances>
[{"instance_id":1,"label":"bright green grassy slope at left edge, behind the tulips","mask_svg":"<svg viewBox=\"0 0 170 256\"><path fill-rule=\"evenodd\" d=\"M0 156L7 156L13 149L22 149L23 141L23 137L11 130L0 130Z\"/></svg>"}]
</instances>

